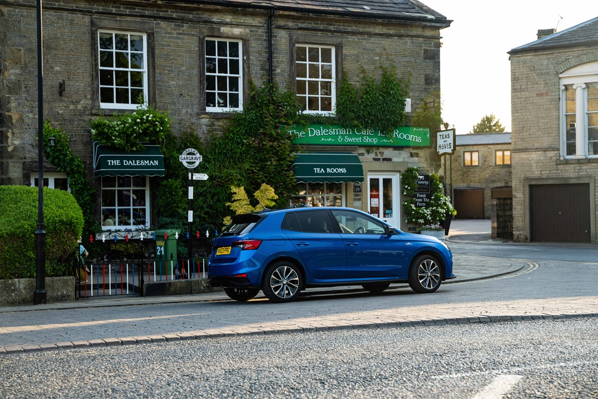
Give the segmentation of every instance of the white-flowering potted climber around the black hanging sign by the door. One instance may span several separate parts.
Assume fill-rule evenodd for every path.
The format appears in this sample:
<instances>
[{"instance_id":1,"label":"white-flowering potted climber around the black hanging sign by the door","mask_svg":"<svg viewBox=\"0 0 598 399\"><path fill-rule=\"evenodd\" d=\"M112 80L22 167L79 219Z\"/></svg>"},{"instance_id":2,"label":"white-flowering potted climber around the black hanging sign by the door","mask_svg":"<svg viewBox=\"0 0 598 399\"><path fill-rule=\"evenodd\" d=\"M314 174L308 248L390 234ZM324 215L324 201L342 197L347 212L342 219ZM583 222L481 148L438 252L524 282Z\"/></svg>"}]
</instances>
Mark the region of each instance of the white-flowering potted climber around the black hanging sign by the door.
<instances>
[{"instance_id":1,"label":"white-flowering potted climber around the black hanging sign by the door","mask_svg":"<svg viewBox=\"0 0 598 399\"><path fill-rule=\"evenodd\" d=\"M443 194L443 184L436 173L430 174L430 200L425 207L416 206L414 194L417 189L417 168L409 167L401 175L405 222L418 225L421 234L444 238L447 227L442 227L448 214L456 214L450 198ZM443 231L444 230L444 231Z\"/></svg>"}]
</instances>

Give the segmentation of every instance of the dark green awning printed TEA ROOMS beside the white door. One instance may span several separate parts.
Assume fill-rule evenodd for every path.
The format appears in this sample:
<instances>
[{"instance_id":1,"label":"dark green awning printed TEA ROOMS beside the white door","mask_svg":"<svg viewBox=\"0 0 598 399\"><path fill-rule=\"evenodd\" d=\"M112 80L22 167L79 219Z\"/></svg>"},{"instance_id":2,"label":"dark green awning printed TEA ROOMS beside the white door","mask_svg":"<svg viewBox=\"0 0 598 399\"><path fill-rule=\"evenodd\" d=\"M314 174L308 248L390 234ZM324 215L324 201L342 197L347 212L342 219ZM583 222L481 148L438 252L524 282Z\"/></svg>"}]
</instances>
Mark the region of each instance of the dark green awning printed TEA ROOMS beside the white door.
<instances>
[{"instance_id":1,"label":"dark green awning printed TEA ROOMS beside the white door","mask_svg":"<svg viewBox=\"0 0 598 399\"><path fill-rule=\"evenodd\" d=\"M300 183L363 182L364 167L353 153L293 154L293 170Z\"/></svg>"}]
</instances>

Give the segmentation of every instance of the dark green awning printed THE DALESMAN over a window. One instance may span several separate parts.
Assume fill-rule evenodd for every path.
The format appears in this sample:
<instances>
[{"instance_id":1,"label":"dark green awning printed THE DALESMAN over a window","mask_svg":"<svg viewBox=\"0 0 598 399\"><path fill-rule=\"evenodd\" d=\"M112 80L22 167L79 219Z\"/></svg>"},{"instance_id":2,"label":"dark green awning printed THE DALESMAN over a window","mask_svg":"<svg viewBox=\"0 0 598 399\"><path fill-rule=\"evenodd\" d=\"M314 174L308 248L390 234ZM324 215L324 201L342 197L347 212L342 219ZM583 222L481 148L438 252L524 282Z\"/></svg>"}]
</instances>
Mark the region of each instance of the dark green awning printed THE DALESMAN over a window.
<instances>
[{"instance_id":1,"label":"dark green awning printed THE DALESMAN over a window","mask_svg":"<svg viewBox=\"0 0 598 399\"><path fill-rule=\"evenodd\" d=\"M145 145L143 151L126 153L108 145L93 143L96 176L164 176L164 156L159 145Z\"/></svg>"}]
</instances>

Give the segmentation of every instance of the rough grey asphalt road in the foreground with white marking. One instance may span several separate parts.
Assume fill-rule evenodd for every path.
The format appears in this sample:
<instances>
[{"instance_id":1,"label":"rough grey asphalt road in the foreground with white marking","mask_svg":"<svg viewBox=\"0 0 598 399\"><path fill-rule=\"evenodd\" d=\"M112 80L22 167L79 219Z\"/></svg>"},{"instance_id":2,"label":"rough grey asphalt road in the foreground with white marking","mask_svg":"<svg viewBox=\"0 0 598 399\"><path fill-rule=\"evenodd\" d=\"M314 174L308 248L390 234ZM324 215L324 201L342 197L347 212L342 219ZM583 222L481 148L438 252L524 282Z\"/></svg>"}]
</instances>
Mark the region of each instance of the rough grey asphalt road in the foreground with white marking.
<instances>
[{"instance_id":1,"label":"rough grey asphalt road in the foreground with white marking","mask_svg":"<svg viewBox=\"0 0 598 399\"><path fill-rule=\"evenodd\" d=\"M0 357L2 398L596 398L597 319L237 336Z\"/></svg>"}]
</instances>

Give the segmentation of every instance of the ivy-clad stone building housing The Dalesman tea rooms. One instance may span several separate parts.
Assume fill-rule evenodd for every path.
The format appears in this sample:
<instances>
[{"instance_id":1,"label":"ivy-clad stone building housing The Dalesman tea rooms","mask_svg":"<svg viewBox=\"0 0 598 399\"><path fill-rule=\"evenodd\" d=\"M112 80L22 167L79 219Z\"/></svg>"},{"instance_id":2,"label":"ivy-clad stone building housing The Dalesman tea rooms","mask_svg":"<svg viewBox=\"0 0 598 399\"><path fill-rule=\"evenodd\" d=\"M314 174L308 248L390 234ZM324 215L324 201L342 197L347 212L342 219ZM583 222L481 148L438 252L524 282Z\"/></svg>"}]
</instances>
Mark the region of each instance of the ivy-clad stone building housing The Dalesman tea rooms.
<instances>
[{"instance_id":1,"label":"ivy-clad stone building housing The Dalesman tea rooms","mask_svg":"<svg viewBox=\"0 0 598 399\"><path fill-rule=\"evenodd\" d=\"M33 185L38 172L35 6L33 0L0 0L0 184ZM121 210L97 195L103 229L135 228L155 216L151 193L160 172L99 169L94 154L105 159L118 154L94 148L90 120L132 112L142 95L169 110L175 133L192 127L208 139L231 111L242 110L250 80L290 87L306 112L331 114L343 74L358 81L362 69L372 73L380 65L396 68L410 82L415 109L440 91L440 30L450 22L410 0L48 0L44 119L69 133L72 151L84 160L98 193L118 197L136 190L145 198L136 211L123 208L137 217L123 224L102 217ZM400 226L401 171L409 166L433 171L440 161L434 138L422 142L418 136L418 143L408 141L416 137L411 130L396 134L407 139L373 143L365 139L375 133L363 133L335 143L341 145L298 142L305 152L325 154L322 170L341 170L334 166L352 159L359 164L358 176L298 176L303 200L364 209ZM321 160L316 155L304 161ZM45 184L66 187L68 176L53 165L45 164L44 173ZM379 206L370 194L380 196Z\"/></svg>"}]
</instances>

